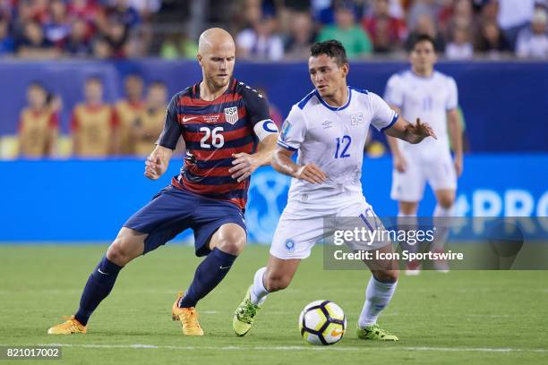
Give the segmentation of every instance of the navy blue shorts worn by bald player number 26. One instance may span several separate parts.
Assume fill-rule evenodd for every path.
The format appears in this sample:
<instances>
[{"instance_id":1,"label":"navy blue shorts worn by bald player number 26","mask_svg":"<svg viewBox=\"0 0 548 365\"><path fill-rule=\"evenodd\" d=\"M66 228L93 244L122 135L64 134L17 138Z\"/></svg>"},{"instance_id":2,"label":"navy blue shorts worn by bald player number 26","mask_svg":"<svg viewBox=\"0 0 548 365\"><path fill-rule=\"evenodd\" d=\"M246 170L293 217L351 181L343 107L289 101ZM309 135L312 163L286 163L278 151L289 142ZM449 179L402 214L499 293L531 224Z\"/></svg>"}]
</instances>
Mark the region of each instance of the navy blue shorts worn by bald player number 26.
<instances>
[{"instance_id":1,"label":"navy blue shorts worn by bald player number 26","mask_svg":"<svg viewBox=\"0 0 548 365\"><path fill-rule=\"evenodd\" d=\"M124 227L149 234L144 242L143 254L174 239L187 228L192 228L196 256L205 256L210 253L207 243L211 235L227 223L240 225L246 231L243 212L234 204L169 185L131 216Z\"/></svg>"}]
</instances>

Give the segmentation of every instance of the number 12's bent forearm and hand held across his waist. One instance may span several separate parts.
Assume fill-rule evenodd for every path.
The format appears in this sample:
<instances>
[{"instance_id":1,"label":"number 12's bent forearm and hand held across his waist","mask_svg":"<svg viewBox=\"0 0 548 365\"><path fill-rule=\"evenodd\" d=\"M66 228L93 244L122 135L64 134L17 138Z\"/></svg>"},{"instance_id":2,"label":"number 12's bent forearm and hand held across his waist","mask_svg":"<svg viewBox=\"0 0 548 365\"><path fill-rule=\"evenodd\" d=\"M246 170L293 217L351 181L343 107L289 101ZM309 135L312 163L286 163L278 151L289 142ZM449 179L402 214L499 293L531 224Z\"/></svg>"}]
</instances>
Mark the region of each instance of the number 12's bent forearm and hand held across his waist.
<instances>
[{"instance_id":1,"label":"number 12's bent forearm and hand held across his waist","mask_svg":"<svg viewBox=\"0 0 548 365\"><path fill-rule=\"evenodd\" d=\"M280 174L287 174L291 177L304 180L308 183L323 183L327 175L321 171L321 168L314 164L297 165L291 157L293 151L278 147L272 157L272 167Z\"/></svg>"}]
</instances>

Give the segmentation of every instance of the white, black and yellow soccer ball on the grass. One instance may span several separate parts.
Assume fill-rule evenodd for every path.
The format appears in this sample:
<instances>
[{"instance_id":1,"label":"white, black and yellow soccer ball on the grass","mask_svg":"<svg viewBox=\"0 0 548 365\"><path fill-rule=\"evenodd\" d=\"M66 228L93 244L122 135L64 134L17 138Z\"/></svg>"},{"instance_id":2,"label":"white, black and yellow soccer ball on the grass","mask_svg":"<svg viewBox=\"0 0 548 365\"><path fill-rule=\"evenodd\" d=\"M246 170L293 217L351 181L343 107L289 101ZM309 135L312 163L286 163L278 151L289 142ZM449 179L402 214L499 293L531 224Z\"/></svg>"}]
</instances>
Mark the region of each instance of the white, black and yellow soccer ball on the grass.
<instances>
[{"instance_id":1,"label":"white, black and yellow soccer ball on the grass","mask_svg":"<svg viewBox=\"0 0 548 365\"><path fill-rule=\"evenodd\" d=\"M332 301L313 301L299 317L299 330L309 344L337 344L346 329L345 312Z\"/></svg>"}]
</instances>

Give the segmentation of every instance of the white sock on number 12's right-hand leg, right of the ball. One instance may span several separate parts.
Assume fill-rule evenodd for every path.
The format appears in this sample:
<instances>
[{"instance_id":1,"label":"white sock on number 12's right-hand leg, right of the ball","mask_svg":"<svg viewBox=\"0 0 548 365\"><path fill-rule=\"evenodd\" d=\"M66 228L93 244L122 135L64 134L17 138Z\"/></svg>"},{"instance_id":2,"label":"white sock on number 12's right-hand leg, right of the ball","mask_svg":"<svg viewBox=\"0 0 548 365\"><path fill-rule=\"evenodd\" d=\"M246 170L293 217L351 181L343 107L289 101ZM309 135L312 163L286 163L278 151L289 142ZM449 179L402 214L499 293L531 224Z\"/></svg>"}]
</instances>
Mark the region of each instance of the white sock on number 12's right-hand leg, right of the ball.
<instances>
[{"instance_id":1,"label":"white sock on number 12's right-hand leg, right of the ball","mask_svg":"<svg viewBox=\"0 0 548 365\"><path fill-rule=\"evenodd\" d=\"M382 283L375 279L374 276L371 276L365 290L364 308L358 319L360 327L371 326L377 323L377 318L379 318L381 311L390 303L397 284L398 282Z\"/></svg>"}]
</instances>

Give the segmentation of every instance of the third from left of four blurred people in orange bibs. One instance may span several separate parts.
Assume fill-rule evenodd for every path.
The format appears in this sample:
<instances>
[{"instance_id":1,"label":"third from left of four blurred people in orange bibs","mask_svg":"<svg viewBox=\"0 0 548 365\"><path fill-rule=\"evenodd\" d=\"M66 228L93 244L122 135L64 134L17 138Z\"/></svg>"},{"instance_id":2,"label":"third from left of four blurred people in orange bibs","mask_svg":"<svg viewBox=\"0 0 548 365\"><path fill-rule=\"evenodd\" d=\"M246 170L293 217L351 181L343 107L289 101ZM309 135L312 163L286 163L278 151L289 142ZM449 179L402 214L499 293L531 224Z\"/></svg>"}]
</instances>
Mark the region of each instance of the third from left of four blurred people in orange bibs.
<instances>
[{"instance_id":1,"label":"third from left of four blurred people in orange bibs","mask_svg":"<svg viewBox=\"0 0 548 365\"><path fill-rule=\"evenodd\" d=\"M124 79L125 98L115 106L118 120L118 141L120 154L132 155L135 141L132 139L133 126L145 111L143 100L144 85L140 75L130 74ZM150 151L149 151L150 152Z\"/></svg>"}]
</instances>

